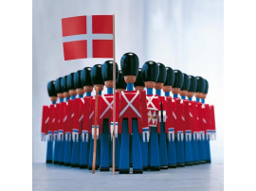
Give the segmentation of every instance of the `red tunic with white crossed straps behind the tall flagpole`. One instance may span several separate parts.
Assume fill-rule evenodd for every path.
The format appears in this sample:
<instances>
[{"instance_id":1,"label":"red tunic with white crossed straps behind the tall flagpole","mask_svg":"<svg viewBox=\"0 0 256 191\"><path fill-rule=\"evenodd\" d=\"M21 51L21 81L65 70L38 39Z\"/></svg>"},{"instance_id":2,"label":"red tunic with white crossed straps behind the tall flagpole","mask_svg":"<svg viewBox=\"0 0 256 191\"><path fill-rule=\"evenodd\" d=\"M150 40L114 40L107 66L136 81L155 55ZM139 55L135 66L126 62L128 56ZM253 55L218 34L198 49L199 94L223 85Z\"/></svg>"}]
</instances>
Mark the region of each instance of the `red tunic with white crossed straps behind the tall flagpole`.
<instances>
[{"instance_id":1,"label":"red tunic with white crossed straps behind the tall flagpole","mask_svg":"<svg viewBox=\"0 0 256 191\"><path fill-rule=\"evenodd\" d=\"M116 93L116 128L118 130L118 121L119 121L119 93ZM113 95L104 95L101 96L101 113L100 113L100 130L99 133L102 133L103 130L103 120L108 119L108 127L110 127L109 132L112 133L113 127L113 106L114 106L114 96Z\"/></svg>"}]
</instances>

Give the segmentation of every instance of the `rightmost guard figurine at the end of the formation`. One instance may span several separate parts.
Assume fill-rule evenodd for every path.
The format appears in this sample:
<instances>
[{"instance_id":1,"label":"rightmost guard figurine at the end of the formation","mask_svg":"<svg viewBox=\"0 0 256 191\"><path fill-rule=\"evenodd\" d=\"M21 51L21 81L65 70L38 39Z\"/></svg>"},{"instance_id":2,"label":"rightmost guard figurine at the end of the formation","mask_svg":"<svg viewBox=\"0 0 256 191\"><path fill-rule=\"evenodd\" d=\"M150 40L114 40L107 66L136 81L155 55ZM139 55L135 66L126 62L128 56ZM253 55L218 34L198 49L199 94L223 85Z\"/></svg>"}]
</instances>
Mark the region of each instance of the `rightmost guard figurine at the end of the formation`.
<instances>
[{"instance_id":1,"label":"rightmost guard figurine at the end of the formation","mask_svg":"<svg viewBox=\"0 0 256 191\"><path fill-rule=\"evenodd\" d=\"M205 144L206 144L206 163L210 163L210 137L211 137L211 130L210 130L210 106L209 104L205 104L205 98L208 94L208 89L209 89L209 83L208 80L205 79L206 81L206 86L204 92L201 94L201 101L203 103L203 106L205 108L205 114L206 114L206 120L203 121L205 122L205 133L206 133L206 139L205 139Z\"/></svg>"}]
</instances>

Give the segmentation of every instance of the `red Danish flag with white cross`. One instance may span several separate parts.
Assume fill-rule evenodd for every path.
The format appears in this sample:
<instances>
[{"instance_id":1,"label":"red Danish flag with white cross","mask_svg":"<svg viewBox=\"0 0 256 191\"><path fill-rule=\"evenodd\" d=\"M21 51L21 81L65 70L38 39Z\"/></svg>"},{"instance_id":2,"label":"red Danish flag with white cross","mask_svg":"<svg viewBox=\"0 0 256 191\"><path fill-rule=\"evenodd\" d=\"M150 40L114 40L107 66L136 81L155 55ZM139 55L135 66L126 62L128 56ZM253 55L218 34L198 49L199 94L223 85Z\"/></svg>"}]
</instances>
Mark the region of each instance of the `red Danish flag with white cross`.
<instances>
[{"instance_id":1,"label":"red Danish flag with white cross","mask_svg":"<svg viewBox=\"0 0 256 191\"><path fill-rule=\"evenodd\" d=\"M113 15L62 19L64 61L113 58Z\"/></svg>"}]
</instances>

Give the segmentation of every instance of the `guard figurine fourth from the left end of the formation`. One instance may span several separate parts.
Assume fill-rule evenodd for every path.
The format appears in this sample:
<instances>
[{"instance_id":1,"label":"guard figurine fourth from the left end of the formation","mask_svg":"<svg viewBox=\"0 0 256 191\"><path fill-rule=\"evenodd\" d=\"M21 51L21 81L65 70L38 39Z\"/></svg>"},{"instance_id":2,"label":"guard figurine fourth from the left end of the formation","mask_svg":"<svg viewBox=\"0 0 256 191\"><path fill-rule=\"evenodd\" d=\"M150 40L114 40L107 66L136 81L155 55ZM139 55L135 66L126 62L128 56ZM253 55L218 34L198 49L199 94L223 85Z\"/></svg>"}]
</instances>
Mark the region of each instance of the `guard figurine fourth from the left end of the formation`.
<instances>
[{"instance_id":1,"label":"guard figurine fourth from the left end of the formation","mask_svg":"<svg viewBox=\"0 0 256 191\"><path fill-rule=\"evenodd\" d=\"M71 165L74 99L77 96L77 92L74 86L74 73L71 73L67 76L66 87L68 89L69 95L71 96L71 99L68 99L66 109L67 124L65 127L64 165Z\"/></svg>"}]
</instances>

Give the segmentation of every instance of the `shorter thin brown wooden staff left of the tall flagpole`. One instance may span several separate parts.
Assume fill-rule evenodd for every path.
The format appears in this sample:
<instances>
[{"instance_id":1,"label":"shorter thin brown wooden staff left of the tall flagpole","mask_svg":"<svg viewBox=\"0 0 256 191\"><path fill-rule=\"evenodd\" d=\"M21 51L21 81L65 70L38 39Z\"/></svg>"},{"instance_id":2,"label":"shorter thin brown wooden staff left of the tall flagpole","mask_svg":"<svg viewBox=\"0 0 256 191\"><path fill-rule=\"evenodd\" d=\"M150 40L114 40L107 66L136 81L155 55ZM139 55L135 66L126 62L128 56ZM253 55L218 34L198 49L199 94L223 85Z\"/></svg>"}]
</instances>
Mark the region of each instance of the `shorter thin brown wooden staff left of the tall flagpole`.
<instances>
[{"instance_id":1,"label":"shorter thin brown wooden staff left of the tall flagpole","mask_svg":"<svg viewBox=\"0 0 256 191\"><path fill-rule=\"evenodd\" d=\"M94 121L94 142L93 142L93 164L92 173L95 173L95 163L96 163L96 148L97 148L97 126L98 126L98 101L99 101L99 87L95 87L95 121Z\"/></svg>"}]
</instances>

